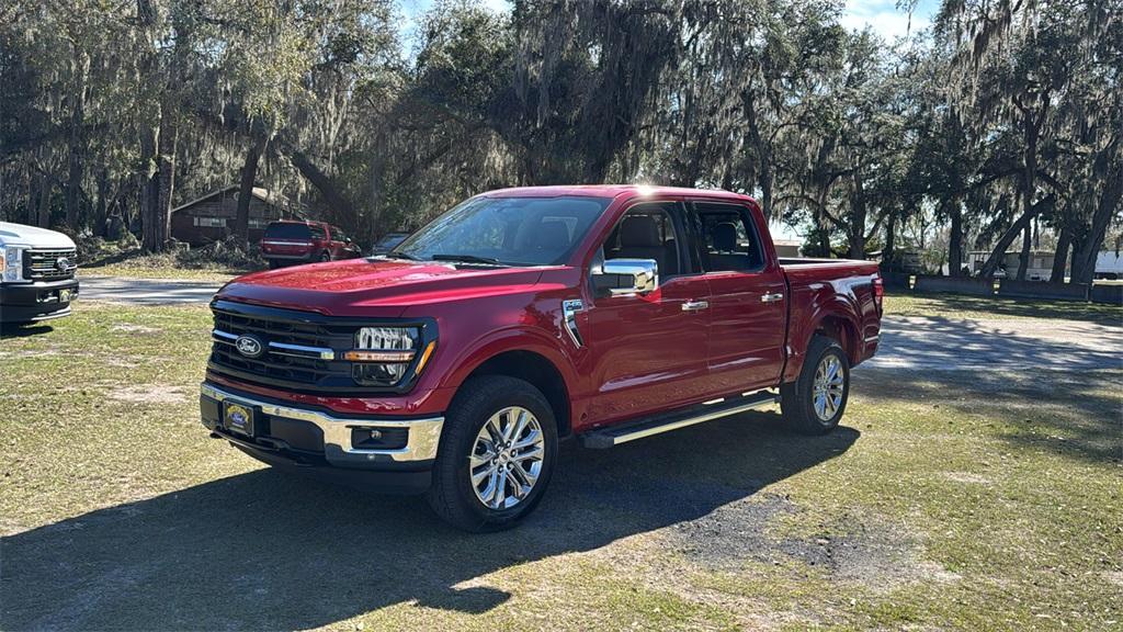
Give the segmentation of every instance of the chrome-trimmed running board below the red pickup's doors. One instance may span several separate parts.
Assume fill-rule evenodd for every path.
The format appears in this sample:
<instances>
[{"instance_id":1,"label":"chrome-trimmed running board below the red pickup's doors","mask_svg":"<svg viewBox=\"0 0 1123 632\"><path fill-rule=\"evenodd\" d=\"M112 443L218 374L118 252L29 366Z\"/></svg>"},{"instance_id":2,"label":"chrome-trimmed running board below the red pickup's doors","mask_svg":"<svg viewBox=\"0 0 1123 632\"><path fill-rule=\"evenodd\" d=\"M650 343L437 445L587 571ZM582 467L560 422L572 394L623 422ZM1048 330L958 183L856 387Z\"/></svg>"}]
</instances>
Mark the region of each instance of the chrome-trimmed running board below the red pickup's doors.
<instances>
[{"instance_id":1,"label":"chrome-trimmed running board below the red pickup's doors","mask_svg":"<svg viewBox=\"0 0 1123 632\"><path fill-rule=\"evenodd\" d=\"M779 401L779 395L761 390L750 392L740 397L725 397L707 401L699 406L692 406L686 410L665 413L655 417L648 417L634 422L612 425L604 428L586 432L581 435L581 443L585 448L602 450L660 434L673 430L693 426L713 419L720 419L754 408L763 408Z\"/></svg>"}]
</instances>

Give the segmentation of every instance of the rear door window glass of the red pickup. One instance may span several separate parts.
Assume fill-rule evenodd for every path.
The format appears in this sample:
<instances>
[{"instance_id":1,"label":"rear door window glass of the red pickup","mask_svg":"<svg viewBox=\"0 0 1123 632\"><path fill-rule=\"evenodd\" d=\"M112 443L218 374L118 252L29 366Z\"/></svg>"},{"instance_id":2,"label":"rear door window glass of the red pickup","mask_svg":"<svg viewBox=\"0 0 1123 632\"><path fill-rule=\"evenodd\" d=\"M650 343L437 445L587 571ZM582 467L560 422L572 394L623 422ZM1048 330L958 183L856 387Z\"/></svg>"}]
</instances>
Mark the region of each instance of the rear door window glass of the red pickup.
<instances>
[{"instance_id":1,"label":"rear door window glass of the red pickup","mask_svg":"<svg viewBox=\"0 0 1123 632\"><path fill-rule=\"evenodd\" d=\"M728 204L695 204L702 231L702 267L706 272L752 271L764 268L764 250L747 208Z\"/></svg>"}]
</instances>

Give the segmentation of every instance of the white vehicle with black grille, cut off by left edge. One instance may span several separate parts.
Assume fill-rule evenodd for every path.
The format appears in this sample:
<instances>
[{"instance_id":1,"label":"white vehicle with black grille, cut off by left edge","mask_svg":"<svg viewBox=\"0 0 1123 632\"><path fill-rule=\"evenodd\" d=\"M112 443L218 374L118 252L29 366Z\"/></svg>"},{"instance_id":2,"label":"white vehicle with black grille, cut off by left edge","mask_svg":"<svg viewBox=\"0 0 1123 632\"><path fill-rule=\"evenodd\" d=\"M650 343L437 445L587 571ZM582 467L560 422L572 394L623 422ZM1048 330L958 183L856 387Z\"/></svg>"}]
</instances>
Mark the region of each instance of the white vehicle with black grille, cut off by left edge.
<instances>
[{"instance_id":1,"label":"white vehicle with black grille, cut off by left edge","mask_svg":"<svg viewBox=\"0 0 1123 632\"><path fill-rule=\"evenodd\" d=\"M74 252L62 233L0 222L0 323L69 315L77 298Z\"/></svg>"}]
</instances>

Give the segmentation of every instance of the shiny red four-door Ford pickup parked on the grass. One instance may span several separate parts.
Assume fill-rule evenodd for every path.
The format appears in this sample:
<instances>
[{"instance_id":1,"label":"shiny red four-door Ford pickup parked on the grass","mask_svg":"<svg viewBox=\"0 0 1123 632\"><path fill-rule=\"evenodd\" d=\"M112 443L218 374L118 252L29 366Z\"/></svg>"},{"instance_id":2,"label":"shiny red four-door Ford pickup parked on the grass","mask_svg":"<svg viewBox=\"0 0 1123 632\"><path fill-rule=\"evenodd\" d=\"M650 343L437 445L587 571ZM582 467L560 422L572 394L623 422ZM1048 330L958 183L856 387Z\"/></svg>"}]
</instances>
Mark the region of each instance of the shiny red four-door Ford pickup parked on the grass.
<instances>
[{"instance_id":1,"label":"shiny red four-door Ford pickup parked on the grass","mask_svg":"<svg viewBox=\"0 0 1123 632\"><path fill-rule=\"evenodd\" d=\"M241 277L211 307L212 436L490 531L533 509L566 437L611 448L777 403L829 432L877 350L882 281L777 260L745 196L538 187L471 198L385 255Z\"/></svg>"}]
</instances>

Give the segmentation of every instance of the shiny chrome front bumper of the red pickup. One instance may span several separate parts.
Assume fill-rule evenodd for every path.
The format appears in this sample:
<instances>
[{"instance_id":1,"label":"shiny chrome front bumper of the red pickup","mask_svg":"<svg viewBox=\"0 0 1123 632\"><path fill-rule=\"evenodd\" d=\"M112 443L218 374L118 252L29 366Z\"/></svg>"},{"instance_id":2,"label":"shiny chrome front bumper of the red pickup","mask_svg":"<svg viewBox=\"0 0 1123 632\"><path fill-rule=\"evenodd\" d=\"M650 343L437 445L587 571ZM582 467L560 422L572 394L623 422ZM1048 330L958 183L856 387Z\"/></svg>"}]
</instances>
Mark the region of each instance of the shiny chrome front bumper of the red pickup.
<instances>
[{"instance_id":1,"label":"shiny chrome front bumper of the red pickup","mask_svg":"<svg viewBox=\"0 0 1123 632\"><path fill-rule=\"evenodd\" d=\"M258 408L262 414L271 417L299 419L314 424L323 433L323 455L330 464L344 467L376 466L387 461L394 463L412 463L431 461L437 458L440 444L440 431L445 426L445 417L427 417L422 419L386 418L348 418L336 417L311 408L298 408L265 401L245 396L240 392L228 392L214 385L203 382L200 386L203 397L209 397L220 404L232 399ZM203 423L206 424L206 421ZM355 428L407 428L408 439L403 448L395 450L371 450L351 445L351 431ZM213 430L213 428L211 428Z\"/></svg>"}]
</instances>

